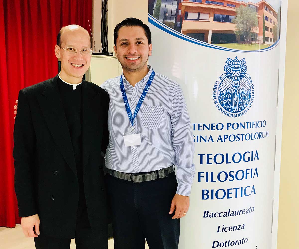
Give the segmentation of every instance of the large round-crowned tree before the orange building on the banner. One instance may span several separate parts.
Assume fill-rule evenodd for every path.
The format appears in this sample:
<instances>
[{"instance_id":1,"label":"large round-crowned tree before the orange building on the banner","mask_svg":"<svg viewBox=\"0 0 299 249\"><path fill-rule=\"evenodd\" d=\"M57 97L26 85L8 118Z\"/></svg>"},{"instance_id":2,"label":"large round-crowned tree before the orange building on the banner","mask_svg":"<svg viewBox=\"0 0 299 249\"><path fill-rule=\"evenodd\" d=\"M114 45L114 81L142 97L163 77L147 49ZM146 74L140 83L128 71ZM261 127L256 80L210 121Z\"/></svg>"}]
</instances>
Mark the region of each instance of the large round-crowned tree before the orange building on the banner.
<instances>
[{"instance_id":1,"label":"large round-crowned tree before the orange building on the banner","mask_svg":"<svg viewBox=\"0 0 299 249\"><path fill-rule=\"evenodd\" d=\"M235 34L243 36L246 43L251 43L252 28L256 27L257 24L257 13L250 7L244 7L241 5L236 8L237 15L234 19Z\"/></svg>"}]
</instances>

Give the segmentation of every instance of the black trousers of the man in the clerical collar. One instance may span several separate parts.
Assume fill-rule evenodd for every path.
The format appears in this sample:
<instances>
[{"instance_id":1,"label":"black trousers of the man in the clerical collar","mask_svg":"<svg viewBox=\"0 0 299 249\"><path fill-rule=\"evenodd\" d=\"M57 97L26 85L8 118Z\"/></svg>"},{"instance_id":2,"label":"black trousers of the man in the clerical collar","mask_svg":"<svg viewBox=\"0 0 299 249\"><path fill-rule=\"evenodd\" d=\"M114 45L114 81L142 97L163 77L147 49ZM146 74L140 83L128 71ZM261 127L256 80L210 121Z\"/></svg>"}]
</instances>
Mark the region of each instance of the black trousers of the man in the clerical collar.
<instances>
[{"instance_id":1,"label":"black trousers of the man in the clerical collar","mask_svg":"<svg viewBox=\"0 0 299 249\"><path fill-rule=\"evenodd\" d=\"M85 198L79 199L75 241L77 249L108 248L108 237L93 234L91 230ZM36 249L69 249L71 238L53 238L40 234L38 237L34 238L34 243Z\"/></svg>"}]
</instances>

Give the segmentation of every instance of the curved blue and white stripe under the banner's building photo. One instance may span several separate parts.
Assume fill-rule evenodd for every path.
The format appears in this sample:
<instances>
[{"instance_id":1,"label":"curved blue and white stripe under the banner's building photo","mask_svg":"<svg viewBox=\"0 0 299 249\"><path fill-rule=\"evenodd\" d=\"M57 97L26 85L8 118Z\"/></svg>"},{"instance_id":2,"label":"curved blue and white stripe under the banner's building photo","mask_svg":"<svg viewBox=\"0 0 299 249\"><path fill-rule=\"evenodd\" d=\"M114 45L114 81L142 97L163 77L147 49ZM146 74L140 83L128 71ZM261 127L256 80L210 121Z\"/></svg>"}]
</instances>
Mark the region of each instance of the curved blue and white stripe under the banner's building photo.
<instances>
[{"instance_id":1,"label":"curved blue and white stripe under the banner's building photo","mask_svg":"<svg viewBox=\"0 0 299 249\"><path fill-rule=\"evenodd\" d=\"M209 44L206 42L202 42L199 40L196 40L192 37L189 37L187 35L184 35L182 33L179 33L178 31L168 27L167 25L165 25L162 22L159 22L157 19L155 19L152 15L148 14L148 22L152 25L154 25L155 27L165 31L166 33L169 33L170 35L176 36L179 39L185 40L187 42L191 42L197 45L201 45L207 48L214 48L214 49L219 49L219 50L224 50L224 51L231 51L231 52L239 52L239 53L249 53L249 52L264 52L264 51L269 51L273 48L275 48L278 43L279 43L279 39L271 46L269 46L269 48L262 48L259 50L239 50L239 49L232 49L232 48L225 48L225 47L220 47L217 45L213 45L213 44Z\"/></svg>"}]
</instances>

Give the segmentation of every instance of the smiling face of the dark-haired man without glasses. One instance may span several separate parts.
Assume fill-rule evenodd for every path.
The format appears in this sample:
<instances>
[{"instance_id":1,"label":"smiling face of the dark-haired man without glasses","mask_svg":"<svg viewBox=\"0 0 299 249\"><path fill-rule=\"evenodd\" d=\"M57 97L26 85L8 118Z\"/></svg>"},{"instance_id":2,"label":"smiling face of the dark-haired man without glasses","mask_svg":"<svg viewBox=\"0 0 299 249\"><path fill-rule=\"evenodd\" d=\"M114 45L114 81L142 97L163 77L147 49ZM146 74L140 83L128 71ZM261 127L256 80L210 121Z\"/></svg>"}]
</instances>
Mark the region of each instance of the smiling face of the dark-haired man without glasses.
<instances>
[{"instance_id":1,"label":"smiling face of the dark-haired man without glasses","mask_svg":"<svg viewBox=\"0 0 299 249\"><path fill-rule=\"evenodd\" d=\"M124 26L118 30L114 51L123 70L137 72L147 66L152 55L152 44L148 44L144 29L139 26Z\"/></svg>"}]
</instances>

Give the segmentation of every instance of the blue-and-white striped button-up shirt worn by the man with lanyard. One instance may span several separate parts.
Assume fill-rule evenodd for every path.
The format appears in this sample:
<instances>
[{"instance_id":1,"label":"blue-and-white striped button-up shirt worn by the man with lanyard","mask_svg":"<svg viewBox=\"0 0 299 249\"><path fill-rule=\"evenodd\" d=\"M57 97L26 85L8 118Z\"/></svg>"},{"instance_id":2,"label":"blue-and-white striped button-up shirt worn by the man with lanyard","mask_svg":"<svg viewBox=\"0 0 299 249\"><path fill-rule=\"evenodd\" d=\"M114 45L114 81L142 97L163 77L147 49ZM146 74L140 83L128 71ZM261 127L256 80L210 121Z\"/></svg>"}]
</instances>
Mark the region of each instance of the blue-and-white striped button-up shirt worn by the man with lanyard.
<instances>
[{"instance_id":1,"label":"blue-and-white striped button-up shirt worn by the man with lanyard","mask_svg":"<svg viewBox=\"0 0 299 249\"><path fill-rule=\"evenodd\" d=\"M132 114L152 74L135 87L124 75L123 84ZM125 173L156 171L176 165L177 194L189 196L195 174L194 142L183 92L178 83L156 73L132 127L120 91L120 76L106 80L101 87L109 93L109 145L106 167ZM133 128L133 129L132 129ZM123 136L141 135L141 145L125 147Z\"/></svg>"}]
</instances>

